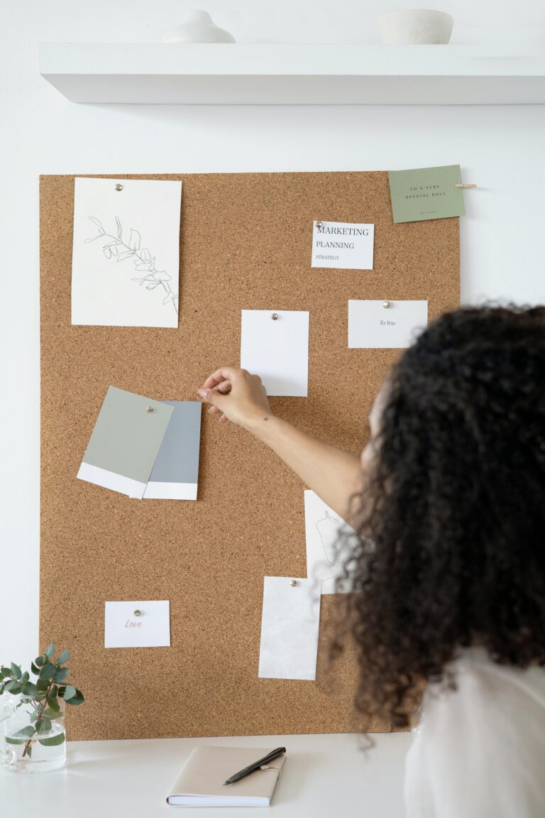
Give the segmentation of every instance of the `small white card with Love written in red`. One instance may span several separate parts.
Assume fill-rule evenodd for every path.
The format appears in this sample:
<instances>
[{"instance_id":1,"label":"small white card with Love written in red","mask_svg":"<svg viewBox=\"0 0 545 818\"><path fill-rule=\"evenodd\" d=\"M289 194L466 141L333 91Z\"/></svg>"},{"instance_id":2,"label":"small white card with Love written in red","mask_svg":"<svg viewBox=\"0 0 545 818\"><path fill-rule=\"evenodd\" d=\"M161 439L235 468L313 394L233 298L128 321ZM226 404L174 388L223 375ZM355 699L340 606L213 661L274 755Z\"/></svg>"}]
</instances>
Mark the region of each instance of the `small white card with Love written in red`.
<instances>
[{"instance_id":1,"label":"small white card with Love written in red","mask_svg":"<svg viewBox=\"0 0 545 818\"><path fill-rule=\"evenodd\" d=\"M105 602L104 622L105 648L170 647L168 600Z\"/></svg>"}]
</instances>

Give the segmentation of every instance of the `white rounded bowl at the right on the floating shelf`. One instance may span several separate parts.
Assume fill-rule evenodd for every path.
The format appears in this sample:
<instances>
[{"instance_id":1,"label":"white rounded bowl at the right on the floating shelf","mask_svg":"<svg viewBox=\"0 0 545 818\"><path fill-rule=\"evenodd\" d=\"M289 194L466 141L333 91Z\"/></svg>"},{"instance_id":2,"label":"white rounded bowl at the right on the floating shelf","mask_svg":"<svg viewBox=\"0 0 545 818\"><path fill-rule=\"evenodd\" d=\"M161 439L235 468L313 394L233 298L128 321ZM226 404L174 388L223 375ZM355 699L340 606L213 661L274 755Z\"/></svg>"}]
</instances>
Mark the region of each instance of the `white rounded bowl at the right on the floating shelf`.
<instances>
[{"instance_id":1,"label":"white rounded bowl at the right on the floating shelf","mask_svg":"<svg viewBox=\"0 0 545 818\"><path fill-rule=\"evenodd\" d=\"M378 18L385 45L446 45L453 30L453 17L426 8L386 11Z\"/></svg>"}]
</instances>

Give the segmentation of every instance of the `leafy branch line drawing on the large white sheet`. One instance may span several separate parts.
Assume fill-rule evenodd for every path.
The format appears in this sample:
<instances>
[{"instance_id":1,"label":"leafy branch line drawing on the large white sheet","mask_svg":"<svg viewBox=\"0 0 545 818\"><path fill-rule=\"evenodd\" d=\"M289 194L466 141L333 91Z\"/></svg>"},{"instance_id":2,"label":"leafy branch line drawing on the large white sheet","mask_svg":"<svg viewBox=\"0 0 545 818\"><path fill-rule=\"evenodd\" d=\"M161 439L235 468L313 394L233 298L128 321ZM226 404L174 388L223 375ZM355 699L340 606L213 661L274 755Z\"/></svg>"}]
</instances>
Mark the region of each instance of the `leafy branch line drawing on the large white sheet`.
<instances>
[{"instance_id":1,"label":"leafy branch line drawing on the large white sheet","mask_svg":"<svg viewBox=\"0 0 545 818\"><path fill-rule=\"evenodd\" d=\"M88 244L90 241L96 241L97 239L105 239L106 243L102 246L102 251L106 258L115 258L118 262L132 258L136 272L145 273L141 278L133 278L132 281L137 281L140 285L145 285L146 290L155 290L157 287L163 287L165 291L163 304L172 303L177 314L178 296L172 292L171 286L168 283L171 281L172 276L169 276L165 270L155 269L155 257L151 255L147 247L141 249L140 233L131 227L131 235L128 244L126 244L125 241L123 241L123 227L117 216L115 217L117 236L112 236L111 233L107 233L100 219L95 216L89 216L88 218L99 232L97 236L85 239L85 244Z\"/></svg>"}]
</instances>

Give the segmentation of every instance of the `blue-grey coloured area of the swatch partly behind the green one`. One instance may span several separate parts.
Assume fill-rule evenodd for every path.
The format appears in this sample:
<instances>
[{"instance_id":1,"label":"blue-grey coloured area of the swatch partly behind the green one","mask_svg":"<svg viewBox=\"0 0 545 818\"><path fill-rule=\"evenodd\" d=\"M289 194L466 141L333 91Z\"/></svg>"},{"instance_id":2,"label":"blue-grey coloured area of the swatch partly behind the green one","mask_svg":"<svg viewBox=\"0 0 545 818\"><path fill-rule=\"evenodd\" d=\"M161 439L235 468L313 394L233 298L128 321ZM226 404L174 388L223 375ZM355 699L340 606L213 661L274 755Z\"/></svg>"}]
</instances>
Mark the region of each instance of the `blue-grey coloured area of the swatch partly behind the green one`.
<instances>
[{"instance_id":1,"label":"blue-grey coloured area of the swatch partly behind the green one","mask_svg":"<svg viewBox=\"0 0 545 818\"><path fill-rule=\"evenodd\" d=\"M172 407L172 416L150 474L150 483L197 483L202 403L163 403Z\"/></svg>"}]
</instances>

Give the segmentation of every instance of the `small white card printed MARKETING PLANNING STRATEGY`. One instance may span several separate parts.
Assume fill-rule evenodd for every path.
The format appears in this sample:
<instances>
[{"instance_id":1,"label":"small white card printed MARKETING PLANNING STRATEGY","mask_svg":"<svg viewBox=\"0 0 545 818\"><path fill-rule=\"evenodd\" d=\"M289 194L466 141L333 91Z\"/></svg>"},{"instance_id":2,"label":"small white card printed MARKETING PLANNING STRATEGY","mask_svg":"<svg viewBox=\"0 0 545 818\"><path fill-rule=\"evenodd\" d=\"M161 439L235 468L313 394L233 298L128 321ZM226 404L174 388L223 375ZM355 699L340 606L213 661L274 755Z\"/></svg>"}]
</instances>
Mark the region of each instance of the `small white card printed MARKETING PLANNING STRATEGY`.
<instances>
[{"instance_id":1,"label":"small white card printed MARKETING PLANNING STRATEGY","mask_svg":"<svg viewBox=\"0 0 545 818\"><path fill-rule=\"evenodd\" d=\"M314 222L312 267L372 270L374 224Z\"/></svg>"}]
</instances>

